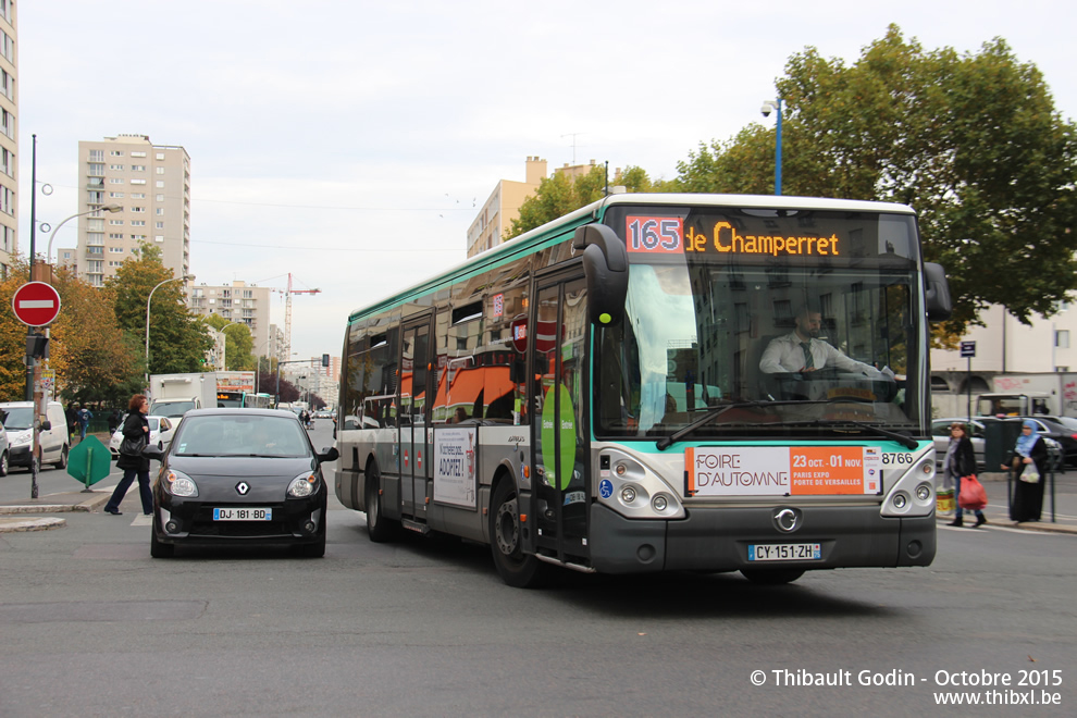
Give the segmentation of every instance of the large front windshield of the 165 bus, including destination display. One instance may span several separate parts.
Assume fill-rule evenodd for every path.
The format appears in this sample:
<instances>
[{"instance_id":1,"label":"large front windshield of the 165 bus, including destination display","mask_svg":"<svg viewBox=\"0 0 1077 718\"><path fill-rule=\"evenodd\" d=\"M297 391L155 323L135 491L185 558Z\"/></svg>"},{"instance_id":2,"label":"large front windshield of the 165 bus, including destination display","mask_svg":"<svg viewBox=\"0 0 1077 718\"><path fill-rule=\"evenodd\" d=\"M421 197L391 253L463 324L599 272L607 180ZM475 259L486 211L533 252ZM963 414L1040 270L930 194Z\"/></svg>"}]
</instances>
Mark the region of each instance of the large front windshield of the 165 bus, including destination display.
<instances>
[{"instance_id":1,"label":"large front windshield of the 165 bus, including destination display","mask_svg":"<svg viewBox=\"0 0 1077 718\"><path fill-rule=\"evenodd\" d=\"M631 267L623 320L596 334L597 435L666 436L719 408L694 438L919 426L912 215L617 208L607 223Z\"/></svg>"}]
</instances>

